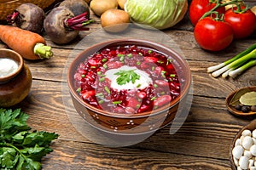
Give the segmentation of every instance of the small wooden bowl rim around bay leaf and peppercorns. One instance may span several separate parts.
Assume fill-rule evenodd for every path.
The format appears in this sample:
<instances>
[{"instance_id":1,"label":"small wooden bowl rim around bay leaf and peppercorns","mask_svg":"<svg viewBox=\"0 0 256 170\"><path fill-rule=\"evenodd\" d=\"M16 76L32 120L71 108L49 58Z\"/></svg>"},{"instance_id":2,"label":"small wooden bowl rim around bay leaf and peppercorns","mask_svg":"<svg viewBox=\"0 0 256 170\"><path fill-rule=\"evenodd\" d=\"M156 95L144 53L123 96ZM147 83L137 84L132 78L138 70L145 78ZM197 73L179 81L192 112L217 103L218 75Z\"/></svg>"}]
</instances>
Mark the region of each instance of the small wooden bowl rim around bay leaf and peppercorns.
<instances>
[{"instance_id":1,"label":"small wooden bowl rim around bay leaf and peppercorns","mask_svg":"<svg viewBox=\"0 0 256 170\"><path fill-rule=\"evenodd\" d=\"M248 89L252 90L252 91L255 91L256 92L256 86L252 86L252 87L247 87ZM233 98L233 96L241 91L242 89L246 89L246 88L240 88L240 89L237 89L236 91L232 92L225 100L225 103L226 103L226 106L228 108L228 111L230 111L230 113L236 115L236 116L253 116L256 114L256 112L254 111L249 111L247 113L244 113L242 111L237 111L236 108L233 106L233 105L230 105L230 100Z\"/></svg>"}]
</instances>

